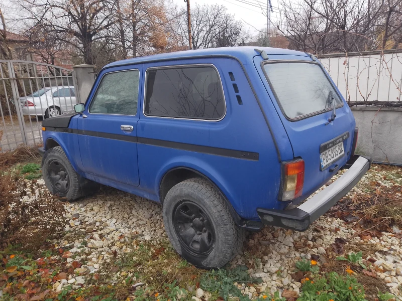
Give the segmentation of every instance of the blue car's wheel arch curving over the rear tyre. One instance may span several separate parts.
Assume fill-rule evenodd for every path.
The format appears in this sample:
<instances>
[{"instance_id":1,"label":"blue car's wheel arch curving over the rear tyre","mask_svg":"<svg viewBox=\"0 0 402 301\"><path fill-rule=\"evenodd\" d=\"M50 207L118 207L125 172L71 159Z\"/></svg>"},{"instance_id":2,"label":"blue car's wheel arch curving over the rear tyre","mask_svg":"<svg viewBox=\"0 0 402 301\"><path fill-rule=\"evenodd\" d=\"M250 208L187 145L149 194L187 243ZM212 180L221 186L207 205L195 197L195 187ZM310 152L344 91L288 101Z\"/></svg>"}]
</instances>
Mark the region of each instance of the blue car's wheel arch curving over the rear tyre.
<instances>
[{"instance_id":1,"label":"blue car's wheel arch curving over the rear tyre","mask_svg":"<svg viewBox=\"0 0 402 301\"><path fill-rule=\"evenodd\" d=\"M236 212L235 208L233 207L232 203L229 201L229 199L225 196L223 191L219 188L217 184L214 183L209 177L207 177L205 174L189 168L189 167L175 167L170 170L168 170L162 177L160 184L159 184L159 200L163 204L163 201L168 193L168 191L175 186L176 184L183 182L185 180L191 179L191 178L203 178L208 183L210 183L221 195L221 197L225 200L226 204L228 205L228 208L236 222L236 224L241 224L243 219L239 216L239 214Z\"/></svg>"}]
</instances>

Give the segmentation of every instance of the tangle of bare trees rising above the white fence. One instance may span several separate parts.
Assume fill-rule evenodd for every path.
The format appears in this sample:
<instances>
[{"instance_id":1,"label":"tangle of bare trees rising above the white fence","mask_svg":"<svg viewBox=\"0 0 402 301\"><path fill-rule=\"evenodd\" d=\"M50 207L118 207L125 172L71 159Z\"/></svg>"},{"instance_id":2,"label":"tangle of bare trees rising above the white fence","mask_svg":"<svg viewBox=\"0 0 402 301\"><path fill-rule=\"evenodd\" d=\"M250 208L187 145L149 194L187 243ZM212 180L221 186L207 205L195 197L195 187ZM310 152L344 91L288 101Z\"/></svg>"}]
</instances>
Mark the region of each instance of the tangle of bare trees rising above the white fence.
<instances>
[{"instance_id":1,"label":"tangle of bare trees rising above the white fence","mask_svg":"<svg viewBox=\"0 0 402 301\"><path fill-rule=\"evenodd\" d=\"M317 54L396 48L402 0L282 1L275 29L290 48Z\"/></svg>"}]
</instances>

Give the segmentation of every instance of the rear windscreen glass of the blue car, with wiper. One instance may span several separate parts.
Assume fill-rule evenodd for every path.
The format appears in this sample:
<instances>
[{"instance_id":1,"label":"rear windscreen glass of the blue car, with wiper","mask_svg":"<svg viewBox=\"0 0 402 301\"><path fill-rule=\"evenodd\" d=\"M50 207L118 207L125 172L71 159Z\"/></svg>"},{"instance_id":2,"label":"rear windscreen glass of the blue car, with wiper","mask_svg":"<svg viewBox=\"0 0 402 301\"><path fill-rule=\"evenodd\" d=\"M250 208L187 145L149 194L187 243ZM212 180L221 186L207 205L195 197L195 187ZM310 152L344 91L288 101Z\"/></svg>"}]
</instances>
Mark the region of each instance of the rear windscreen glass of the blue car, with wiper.
<instances>
[{"instance_id":1,"label":"rear windscreen glass of the blue car, with wiper","mask_svg":"<svg viewBox=\"0 0 402 301\"><path fill-rule=\"evenodd\" d=\"M336 105L342 104L334 87L318 64L300 62L268 63L265 72L275 92L283 113L288 118L325 111L333 106L330 91Z\"/></svg>"}]
</instances>

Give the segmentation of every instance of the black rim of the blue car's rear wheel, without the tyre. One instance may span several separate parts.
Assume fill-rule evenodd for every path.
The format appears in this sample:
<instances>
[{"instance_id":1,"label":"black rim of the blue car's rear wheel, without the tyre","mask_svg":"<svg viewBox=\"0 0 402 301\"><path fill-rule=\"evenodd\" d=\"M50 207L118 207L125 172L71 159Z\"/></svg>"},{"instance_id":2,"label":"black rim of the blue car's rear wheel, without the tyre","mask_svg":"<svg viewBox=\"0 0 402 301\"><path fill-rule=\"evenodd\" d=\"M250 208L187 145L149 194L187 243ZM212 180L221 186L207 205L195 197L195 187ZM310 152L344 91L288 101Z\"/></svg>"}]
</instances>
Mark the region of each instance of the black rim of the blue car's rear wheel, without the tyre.
<instances>
[{"instance_id":1,"label":"black rim of the blue car's rear wheel, without the tyre","mask_svg":"<svg viewBox=\"0 0 402 301\"><path fill-rule=\"evenodd\" d=\"M204 256L214 249L214 226L196 203L180 201L173 210L173 225L180 245L190 254Z\"/></svg>"}]
</instances>

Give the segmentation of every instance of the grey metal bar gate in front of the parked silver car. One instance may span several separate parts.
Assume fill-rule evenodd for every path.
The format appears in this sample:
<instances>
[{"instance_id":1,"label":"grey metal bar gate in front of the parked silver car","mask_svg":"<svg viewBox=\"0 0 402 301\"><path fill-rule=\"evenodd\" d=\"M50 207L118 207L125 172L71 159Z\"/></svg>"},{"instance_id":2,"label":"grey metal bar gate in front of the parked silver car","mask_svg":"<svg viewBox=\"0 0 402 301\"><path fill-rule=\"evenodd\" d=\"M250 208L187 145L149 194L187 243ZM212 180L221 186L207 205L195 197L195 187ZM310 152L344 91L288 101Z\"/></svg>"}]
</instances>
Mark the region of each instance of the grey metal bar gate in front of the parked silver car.
<instances>
[{"instance_id":1,"label":"grey metal bar gate in front of the parked silver car","mask_svg":"<svg viewBox=\"0 0 402 301\"><path fill-rule=\"evenodd\" d=\"M73 111L72 73L45 63L0 60L0 152L41 144L43 118Z\"/></svg>"}]
</instances>

